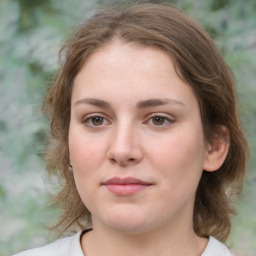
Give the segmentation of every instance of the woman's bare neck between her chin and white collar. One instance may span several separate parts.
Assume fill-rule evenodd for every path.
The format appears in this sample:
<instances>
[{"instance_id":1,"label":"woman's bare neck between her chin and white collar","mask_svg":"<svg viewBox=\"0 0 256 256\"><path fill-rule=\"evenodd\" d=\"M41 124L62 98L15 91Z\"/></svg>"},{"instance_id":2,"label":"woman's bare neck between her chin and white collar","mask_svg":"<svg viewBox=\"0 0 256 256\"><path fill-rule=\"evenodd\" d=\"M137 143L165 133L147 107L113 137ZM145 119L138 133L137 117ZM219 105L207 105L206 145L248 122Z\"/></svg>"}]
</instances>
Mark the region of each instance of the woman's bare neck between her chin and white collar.
<instances>
[{"instance_id":1,"label":"woman's bare neck between her chin and white collar","mask_svg":"<svg viewBox=\"0 0 256 256\"><path fill-rule=\"evenodd\" d=\"M201 255L208 240L198 237L192 225L184 229L188 225L176 224L154 231L127 233L102 227L96 222L93 231L82 238L82 249L86 256Z\"/></svg>"}]
</instances>

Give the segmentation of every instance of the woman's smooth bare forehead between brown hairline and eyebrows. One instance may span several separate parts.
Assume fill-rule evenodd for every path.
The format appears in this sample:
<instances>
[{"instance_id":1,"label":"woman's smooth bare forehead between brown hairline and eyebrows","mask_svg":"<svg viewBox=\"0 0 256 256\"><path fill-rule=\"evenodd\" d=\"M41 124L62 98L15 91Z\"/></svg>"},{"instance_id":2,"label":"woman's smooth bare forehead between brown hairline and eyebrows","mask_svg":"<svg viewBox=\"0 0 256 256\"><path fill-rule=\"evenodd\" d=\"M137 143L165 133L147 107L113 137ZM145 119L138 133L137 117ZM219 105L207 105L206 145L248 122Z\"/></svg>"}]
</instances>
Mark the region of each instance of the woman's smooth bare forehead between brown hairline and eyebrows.
<instances>
[{"instance_id":1,"label":"woman's smooth bare forehead between brown hairline and eyebrows","mask_svg":"<svg viewBox=\"0 0 256 256\"><path fill-rule=\"evenodd\" d=\"M121 93L119 93L121 92ZM74 81L73 96L194 99L177 75L170 55L151 46L114 41L93 53ZM143 98L144 97L144 98ZM175 99L179 100L179 99Z\"/></svg>"}]
</instances>

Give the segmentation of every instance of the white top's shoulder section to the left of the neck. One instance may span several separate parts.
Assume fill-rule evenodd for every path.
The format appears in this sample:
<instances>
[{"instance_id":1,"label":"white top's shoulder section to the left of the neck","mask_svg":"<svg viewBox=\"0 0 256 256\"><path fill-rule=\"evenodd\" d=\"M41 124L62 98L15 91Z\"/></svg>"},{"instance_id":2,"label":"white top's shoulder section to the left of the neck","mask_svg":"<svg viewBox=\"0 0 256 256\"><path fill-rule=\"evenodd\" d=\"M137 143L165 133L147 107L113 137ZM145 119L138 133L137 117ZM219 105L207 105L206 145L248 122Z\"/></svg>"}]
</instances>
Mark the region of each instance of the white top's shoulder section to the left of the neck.
<instances>
[{"instance_id":1,"label":"white top's shoulder section to the left of the neck","mask_svg":"<svg viewBox=\"0 0 256 256\"><path fill-rule=\"evenodd\" d=\"M27 250L13 256L84 256L80 245L81 232L51 244Z\"/></svg>"}]
</instances>

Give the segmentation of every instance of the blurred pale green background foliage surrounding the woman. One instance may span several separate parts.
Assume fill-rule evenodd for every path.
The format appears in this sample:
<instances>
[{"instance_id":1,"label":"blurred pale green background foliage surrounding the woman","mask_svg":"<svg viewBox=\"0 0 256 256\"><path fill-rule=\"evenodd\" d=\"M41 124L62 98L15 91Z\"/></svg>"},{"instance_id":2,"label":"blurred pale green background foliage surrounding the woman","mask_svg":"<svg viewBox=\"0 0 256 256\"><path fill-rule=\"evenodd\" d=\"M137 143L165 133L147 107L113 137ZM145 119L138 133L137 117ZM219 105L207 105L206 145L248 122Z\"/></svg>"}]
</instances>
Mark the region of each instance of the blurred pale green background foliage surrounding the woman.
<instances>
[{"instance_id":1,"label":"blurred pale green background foliage surrounding the woman","mask_svg":"<svg viewBox=\"0 0 256 256\"><path fill-rule=\"evenodd\" d=\"M58 69L61 43L95 6L108 2L0 0L0 256L56 239L47 230L59 212L49 206L57 182L49 182L41 157L48 130L41 100ZM255 256L256 1L169 2L203 25L235 74L251 158L228 245Z\"/></svg>"}]
</instances>

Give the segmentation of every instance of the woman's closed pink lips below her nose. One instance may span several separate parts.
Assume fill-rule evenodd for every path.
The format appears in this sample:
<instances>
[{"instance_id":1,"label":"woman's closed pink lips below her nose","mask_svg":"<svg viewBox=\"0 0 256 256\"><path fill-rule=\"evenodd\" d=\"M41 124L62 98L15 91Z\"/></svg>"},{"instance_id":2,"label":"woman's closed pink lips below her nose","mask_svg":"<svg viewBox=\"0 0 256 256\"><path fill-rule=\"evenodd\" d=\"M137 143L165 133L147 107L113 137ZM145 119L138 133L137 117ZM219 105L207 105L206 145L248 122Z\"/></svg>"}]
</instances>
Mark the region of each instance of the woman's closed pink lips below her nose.
<instances>
[{"instance_id":1,"label":"woman's closed pink lips below her nose","mask_svg":"<svg viewBox=\"0 0 256 256\"><path fill-rule=\"evenodd\" d=\"M113 177L102 183L111 193L117 196L131 196L145 190L152 183L133 177Z\"/></svg>"}]
</instances>

